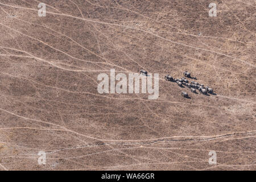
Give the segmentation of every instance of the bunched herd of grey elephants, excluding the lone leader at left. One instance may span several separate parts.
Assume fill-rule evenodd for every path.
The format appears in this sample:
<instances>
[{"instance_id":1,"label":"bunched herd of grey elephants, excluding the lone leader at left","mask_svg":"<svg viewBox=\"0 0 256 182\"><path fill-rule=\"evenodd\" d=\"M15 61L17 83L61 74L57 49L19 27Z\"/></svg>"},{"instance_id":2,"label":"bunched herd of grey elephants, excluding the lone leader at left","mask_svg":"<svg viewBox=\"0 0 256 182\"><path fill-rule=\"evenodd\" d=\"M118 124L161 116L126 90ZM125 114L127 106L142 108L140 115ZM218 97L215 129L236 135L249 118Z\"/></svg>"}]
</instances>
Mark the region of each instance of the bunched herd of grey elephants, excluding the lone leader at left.
<instances>
[{"instance_id":1,"label":"bunched herd of grey elephants, excluding the lone leader at left","mask_svg":"<svg viewBox=\"0 0 256 182\"><path fill-rule=\"evenodd\" d=\"M191 77L191 73L189 73L187 71L183 72L183 75L188 78L196 79L196 77ZM188 88L190 88L192 93L197 93L196 90L199 90L199 92L203 93L203 94L207 94L207 93L213 94L213 89L209 88L209 86L204 87L203 84L199 84L199 82L196 82L196 81L191 81L189 83L187 78L184 78L184 77L180 78L180 79L176 79L176 78L171 77L170 75L166 75L166 76L164 76L164 80L176 82L176 84L179 86L182 86L182 85L187 86ZM188 98L188 93L181 92L181 96Z\"/></svg>"}]
</instances>

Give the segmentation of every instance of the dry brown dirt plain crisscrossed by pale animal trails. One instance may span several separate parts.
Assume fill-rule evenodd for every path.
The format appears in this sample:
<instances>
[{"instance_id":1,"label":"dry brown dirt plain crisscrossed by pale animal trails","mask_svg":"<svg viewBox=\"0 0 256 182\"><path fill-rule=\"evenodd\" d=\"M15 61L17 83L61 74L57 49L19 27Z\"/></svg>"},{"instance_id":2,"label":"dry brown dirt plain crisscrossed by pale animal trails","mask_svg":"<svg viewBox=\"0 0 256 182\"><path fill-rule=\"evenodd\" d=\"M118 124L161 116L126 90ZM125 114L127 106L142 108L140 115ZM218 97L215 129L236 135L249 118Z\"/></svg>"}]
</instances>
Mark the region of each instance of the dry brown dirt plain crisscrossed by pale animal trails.
<instances>
[{"instance_id":1,"label":"dry brown dirt plain crisscrossed by pale animal trails","mask_svg":"<svg viewBox=\"0 0 256 182\"><path fill-rule=\"evenodd\" d=\"M40 2L0 0L0 169L256 169L255 1ZM113 68L159 73L159 98L98 93ZM183 71L216 95L163 79Z\"/></svg>"}]
</instances>

